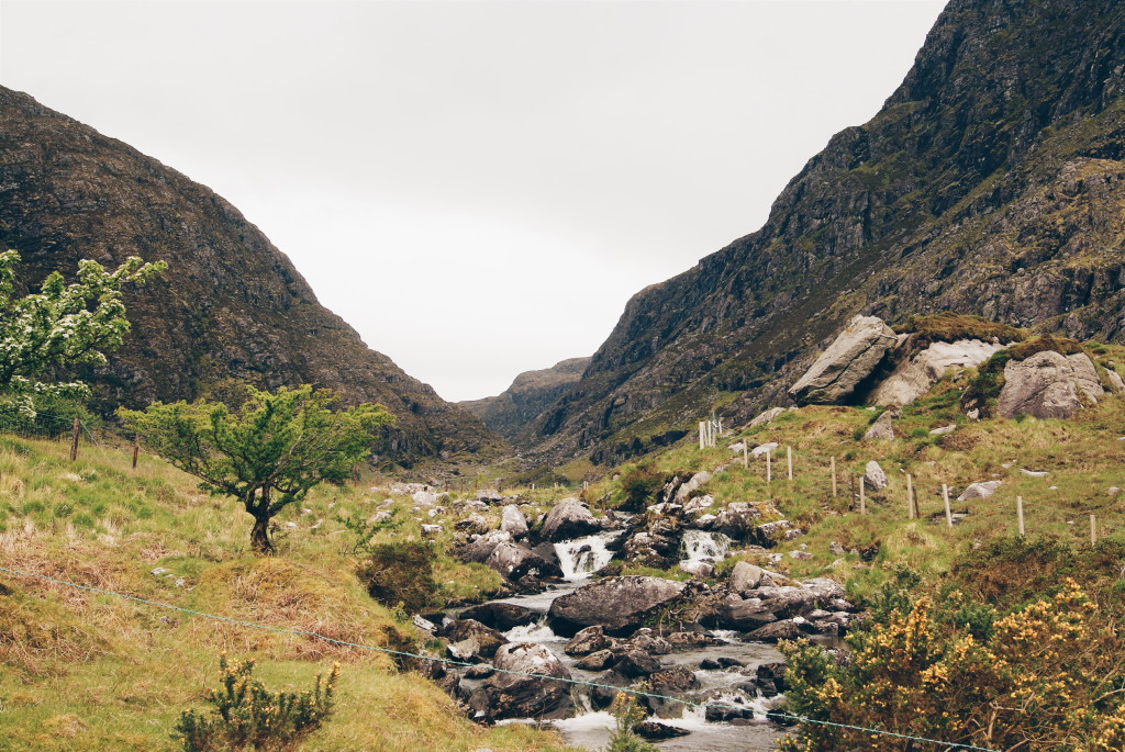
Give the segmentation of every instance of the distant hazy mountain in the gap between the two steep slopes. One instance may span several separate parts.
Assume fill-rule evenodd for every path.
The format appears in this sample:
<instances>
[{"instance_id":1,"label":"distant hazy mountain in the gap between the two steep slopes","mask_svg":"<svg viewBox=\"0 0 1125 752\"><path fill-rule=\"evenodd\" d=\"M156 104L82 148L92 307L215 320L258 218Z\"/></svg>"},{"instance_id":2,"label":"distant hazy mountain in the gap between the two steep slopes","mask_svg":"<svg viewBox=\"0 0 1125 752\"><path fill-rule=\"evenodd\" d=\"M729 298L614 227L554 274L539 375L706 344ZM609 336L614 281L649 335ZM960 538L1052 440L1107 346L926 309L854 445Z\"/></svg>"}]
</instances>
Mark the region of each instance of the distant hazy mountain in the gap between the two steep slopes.
<instances>
[{"instance_id":1,"label":"distant hazy mountain in the gap between the two steep slopes","mask_svg":"<svg viewBox=\"0 0 1125 752\"><path fill-rule=\"evenodd\" d=\"M490 431L513 440L536 416L569 392L587 365L588 357L572 357L549 369L524 371L496 397L466 400L458 406L484 420Z\"/></svg>"}]
</instances>

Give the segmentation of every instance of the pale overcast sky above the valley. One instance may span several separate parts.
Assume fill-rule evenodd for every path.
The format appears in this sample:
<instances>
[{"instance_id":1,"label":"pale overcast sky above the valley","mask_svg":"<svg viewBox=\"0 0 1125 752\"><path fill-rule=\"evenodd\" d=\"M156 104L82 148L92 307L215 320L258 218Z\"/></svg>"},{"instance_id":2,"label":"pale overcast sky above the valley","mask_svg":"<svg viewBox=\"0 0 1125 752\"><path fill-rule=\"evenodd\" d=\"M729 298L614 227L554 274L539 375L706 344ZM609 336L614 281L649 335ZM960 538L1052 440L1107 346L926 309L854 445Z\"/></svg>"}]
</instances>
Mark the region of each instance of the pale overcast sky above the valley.
<instances>
[{"instance_id":1,"label":"pale overcast sky above the valley","mask_svg":"<svg viewBox=\"0 0 1125 752\"><path fill-rule=\"evenodd\" d=\"M944 4L0 0L0 83L224 196L461 400L760 227Z\"/></svg>"}]
</instances>

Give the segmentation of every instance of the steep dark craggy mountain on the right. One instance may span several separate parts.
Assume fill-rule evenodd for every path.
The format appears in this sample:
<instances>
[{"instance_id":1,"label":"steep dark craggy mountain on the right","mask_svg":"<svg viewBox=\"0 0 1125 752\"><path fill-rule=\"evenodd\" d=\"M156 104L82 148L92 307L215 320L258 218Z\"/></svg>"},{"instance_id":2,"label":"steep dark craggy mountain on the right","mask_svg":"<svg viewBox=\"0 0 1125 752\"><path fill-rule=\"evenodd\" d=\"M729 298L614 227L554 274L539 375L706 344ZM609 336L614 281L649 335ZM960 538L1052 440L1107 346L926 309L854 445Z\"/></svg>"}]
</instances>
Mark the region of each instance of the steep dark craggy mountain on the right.
<instances>
[{"instance_id":1,"label":"steep dark craggy mountain on the right","mask_svg":"<svg viewBox=\"0 0 1125 752\"><path fill-rule=\"evenodd\" d=\"M609 463L745 420L857 312L1125 335L1125 4L952 0L906 80L755 233L638 292L529 427ZM529 447L524 447L529 449Z\"/></svg>"}]
</instances>

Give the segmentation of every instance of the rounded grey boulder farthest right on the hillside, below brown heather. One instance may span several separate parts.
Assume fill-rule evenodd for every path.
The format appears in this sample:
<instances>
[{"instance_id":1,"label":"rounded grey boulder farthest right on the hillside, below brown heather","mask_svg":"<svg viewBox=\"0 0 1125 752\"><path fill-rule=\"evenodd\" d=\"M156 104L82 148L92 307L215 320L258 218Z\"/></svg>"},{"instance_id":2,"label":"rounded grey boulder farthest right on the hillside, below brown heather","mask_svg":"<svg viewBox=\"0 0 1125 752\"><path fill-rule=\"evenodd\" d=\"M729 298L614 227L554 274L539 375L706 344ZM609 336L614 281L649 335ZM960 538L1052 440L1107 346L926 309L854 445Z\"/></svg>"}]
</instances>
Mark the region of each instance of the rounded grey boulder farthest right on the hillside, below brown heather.
<instances>
[{"instance_id":1,"label":"rounded grey boulder farthest right on the hillside, below brown heather","mask_svg":"<svg viewBox=\"0 0 1125 752\"><path fill-rule=\"evenodd\" d=\"M1082 408L1082 398L1097 402L1105 395L1097 369L1084 353L1036 353L1004 368L1004 389L997 413L1011 418L1069 418Z\"/></svg>"}]
</instances>

